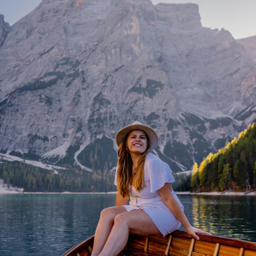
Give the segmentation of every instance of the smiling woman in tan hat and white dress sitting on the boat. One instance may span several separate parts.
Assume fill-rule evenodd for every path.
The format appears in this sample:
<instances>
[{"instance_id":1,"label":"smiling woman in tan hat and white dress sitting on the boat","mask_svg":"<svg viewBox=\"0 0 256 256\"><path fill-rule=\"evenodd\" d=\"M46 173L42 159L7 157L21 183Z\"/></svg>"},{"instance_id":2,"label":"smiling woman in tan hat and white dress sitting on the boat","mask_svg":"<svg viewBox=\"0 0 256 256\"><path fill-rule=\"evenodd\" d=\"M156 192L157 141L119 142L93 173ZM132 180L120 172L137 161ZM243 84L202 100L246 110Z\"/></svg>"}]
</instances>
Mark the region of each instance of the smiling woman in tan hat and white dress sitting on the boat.
<instances>
[{"instance_id":1,"label":"smiling woman in tan hat and white dress sitting on the boat","mask_svg":"<svg viewBox=\"0 0 256 256\"><path fill-rule=\"evenodd\" d=\"M136 121L117 132L116 143L116 206L102 210L91 256L117 255L125 247L129 232L166 236L182 224L196 239L196 233L209 234L189 224L172 190L170 167L150 153L158 144L151 127Z\"/></svg>"}]
</instances>

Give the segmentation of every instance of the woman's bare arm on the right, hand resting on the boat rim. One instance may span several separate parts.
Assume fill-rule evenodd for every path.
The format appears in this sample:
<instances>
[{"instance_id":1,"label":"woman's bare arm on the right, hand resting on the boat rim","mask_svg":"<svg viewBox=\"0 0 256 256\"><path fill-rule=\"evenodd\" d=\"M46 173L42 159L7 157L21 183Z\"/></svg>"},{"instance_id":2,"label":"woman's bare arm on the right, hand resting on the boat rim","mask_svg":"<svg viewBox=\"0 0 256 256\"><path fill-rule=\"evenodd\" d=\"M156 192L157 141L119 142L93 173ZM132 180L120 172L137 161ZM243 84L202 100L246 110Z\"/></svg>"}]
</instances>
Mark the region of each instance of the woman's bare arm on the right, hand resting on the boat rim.
<instances>
[{"instance_id":1,"label":"woman's bare arm on the right, hand resting on the boat rim","mask_svg":"<svg viewBox=\"0 0 256 256\"><path fill-rule=\"evenodd\" d=\"M192 227L187 217L185 216L184 212L181 209L180 204L176 201L172 194L172 184L171 183L165 183L163 187L158 189L158 192L161 196L161 199L163 202L167 205L167 207L170 209L170 211L173 213L173 215L179 219L181 224L184 226L184 228L187 230L188 234L195 237L197 240L199 240L199 237L196 233L203 233L203 234L210 234L208 232L202 231L199 228Z\"/></svg>"}]
</instances>

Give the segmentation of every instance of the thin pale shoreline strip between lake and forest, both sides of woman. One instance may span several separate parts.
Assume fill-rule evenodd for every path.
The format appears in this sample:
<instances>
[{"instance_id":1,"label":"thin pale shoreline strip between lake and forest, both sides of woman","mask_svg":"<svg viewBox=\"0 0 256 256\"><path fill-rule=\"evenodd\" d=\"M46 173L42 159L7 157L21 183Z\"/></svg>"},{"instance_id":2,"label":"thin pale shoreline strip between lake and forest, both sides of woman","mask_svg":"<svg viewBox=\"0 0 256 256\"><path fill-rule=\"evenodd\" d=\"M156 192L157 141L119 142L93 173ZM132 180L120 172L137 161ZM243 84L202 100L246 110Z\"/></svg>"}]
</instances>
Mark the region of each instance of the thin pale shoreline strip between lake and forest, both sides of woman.
<instances>
[{"instance_id":1,"label":"thin pale shoreline strip between lake and forest, both sides of woman","mask_svg":"<svg viewBox=\"0 0 256 256\"><path fill-rule=\"evenodd\" d=\"M234 192L234 191L223 191L223 192L190 192L190 191L184 191L184 192L175 192L177 195L203 195L203 196L256 196L256 191L252 192ZM24 194L48 194L48 195L55 195L55 194L60 194L60 195L69 195L69 194L117 194L117 191L110 191L110 192L69 192L69 191L64 191L64 192L23 192L23 191L17 191L17 190L5 190L5 191L0 191L0 195L24 195Z\"/></svg>"}]
</instances>

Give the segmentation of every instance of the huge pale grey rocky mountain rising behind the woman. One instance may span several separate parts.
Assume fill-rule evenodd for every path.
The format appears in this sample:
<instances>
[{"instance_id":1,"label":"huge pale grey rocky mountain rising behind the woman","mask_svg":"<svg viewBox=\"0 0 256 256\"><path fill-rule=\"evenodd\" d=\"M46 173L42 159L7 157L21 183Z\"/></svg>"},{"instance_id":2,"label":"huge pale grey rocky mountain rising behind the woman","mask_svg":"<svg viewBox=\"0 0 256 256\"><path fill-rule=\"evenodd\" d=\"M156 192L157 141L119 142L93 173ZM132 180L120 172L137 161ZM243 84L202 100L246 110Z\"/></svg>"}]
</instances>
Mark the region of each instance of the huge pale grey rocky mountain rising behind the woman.
<instances>
[{"instance_id":1,"label":"huge pale grey rocky mountain rising behind the woman","mask_svg":"<svg viewBox=\"0 0 256 256\"><path fill-rule=\"evenodd\" d=\"M43 0L4 26L0 153L111 170L115 133L139 120L178 172L256 119L255 59L196 4Z\"/></svg>"}]
</instances>

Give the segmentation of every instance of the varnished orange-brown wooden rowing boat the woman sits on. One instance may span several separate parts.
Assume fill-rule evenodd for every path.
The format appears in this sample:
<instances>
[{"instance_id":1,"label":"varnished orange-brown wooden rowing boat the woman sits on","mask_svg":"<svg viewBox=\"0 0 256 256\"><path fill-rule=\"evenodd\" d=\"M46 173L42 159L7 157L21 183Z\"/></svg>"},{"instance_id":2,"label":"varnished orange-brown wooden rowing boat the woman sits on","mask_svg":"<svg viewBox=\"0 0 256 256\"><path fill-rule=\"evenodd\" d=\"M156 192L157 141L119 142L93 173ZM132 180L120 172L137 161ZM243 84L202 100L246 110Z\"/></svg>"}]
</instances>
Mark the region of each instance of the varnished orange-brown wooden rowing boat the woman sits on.
<instances>
[{"instance_id":1,"label":"varnished orange-brown wooden rowing boat the woman sits on","mask_svg":"<svg viewBox=\"0 0 256 256\"><path fill-rule=\"evenodd\" d=\"M256 243L198 234L200 240L176 230L166 237L143 237L134 234L118 256L256 256ZM90 256L94 236L72 247L61 256Z\"/></svg>"}]
</instances>

